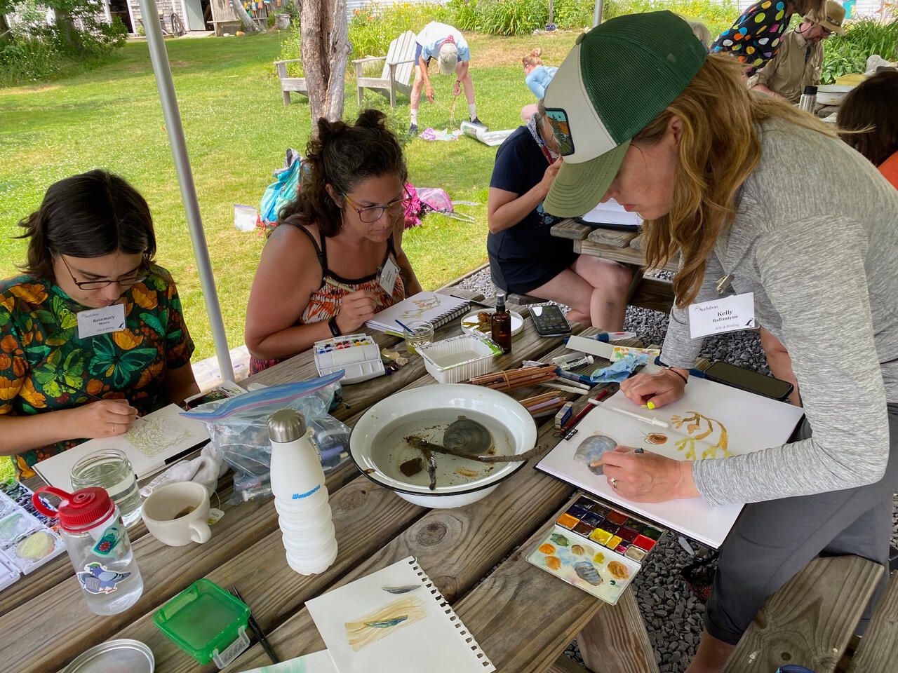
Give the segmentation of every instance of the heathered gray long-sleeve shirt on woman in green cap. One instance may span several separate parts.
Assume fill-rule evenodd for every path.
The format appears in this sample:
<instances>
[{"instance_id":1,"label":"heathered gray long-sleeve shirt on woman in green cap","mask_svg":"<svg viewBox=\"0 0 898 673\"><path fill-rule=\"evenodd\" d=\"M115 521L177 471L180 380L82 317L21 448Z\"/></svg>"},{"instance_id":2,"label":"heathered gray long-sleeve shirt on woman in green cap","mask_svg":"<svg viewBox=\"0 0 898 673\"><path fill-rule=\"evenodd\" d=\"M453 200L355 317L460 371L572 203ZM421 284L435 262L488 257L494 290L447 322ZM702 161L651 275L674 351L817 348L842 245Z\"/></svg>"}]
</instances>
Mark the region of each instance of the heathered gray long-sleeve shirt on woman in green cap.
<instances>
[{"instance_id":1,"label":"heathered gray long-sleeve shirt on woman in green cap","mask_svg":"<svg viewBox=\"0 0 898 673\"><path fill-rule=\"evenodd\" d=\"M885 472L886 400L898 402L898 190L847 144L781 119L760 125L762 156L718 237L695 302L754 293L758 324L792 358L812 439L698 460L710 504L867 485ZM701 339L671 311L661 359L691 367ZM763 423L763 419L758 419Z\"/></svg>"}]
</instances>

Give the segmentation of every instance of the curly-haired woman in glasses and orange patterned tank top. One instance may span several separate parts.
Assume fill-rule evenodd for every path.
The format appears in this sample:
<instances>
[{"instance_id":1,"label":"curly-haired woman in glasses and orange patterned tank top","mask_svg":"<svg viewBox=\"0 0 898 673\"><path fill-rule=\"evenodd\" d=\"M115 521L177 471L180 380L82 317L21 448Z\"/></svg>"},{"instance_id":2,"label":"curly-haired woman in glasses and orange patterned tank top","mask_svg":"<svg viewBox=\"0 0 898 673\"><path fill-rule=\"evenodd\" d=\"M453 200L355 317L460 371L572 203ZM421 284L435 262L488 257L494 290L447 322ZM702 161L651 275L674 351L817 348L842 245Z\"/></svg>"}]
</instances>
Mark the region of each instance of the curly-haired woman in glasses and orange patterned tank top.
<instances>
[{"instance_id":1,"label":"curly-haired woman in glasses and orange patterned tank top","mask_svg":"<svg viewBox=\"0 0 898 673\"><path fill-rule=\"evenodd\" d=\"M319 119L299 196L281 210L252 281L245 332L252 373L351 334L421 291L402 251L405 159L384 120L374 109L354 125ZM400 274L390 284L384 276L394 266Z\"/></svg>"}]
</instances>

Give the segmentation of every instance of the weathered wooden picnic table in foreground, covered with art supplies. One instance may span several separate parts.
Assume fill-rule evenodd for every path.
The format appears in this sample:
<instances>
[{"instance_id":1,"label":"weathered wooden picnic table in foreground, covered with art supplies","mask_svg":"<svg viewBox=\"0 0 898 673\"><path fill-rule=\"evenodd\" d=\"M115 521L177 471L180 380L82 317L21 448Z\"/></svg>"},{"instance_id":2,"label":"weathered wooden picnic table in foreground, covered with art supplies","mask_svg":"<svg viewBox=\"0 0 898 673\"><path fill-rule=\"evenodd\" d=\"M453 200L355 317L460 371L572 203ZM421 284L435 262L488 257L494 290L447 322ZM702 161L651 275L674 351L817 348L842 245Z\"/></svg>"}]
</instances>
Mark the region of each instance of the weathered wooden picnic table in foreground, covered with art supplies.
<instances>
[{"instance_id":1,"label":"weathered wooden picnic table in foreground, covered with art supplies","mask_svg":"<svg viewBox=\"0 0 898 673\"><path fill-rule=\"evenodd\" d=\"M580 330L576 324L573 328L581 334L595 331ZM436 338L458 331L455 321L439 329ZM381 333L373 336L382 346L398 343ZM498 358L499 369L568 352L559 337L539 337L529 319L513 345L511 354ZM351 426L368 406L393 392L434 383L418 356L409 360L391 376L344 387L349 408L341 407L334 415ZM305 352L248 383L273 385L316 374L312 354ZM533 389L513 394L524 398ZM578 398L575 410L585 402L585 396ZM553 446L559 441L553 436L551 416L537 424L538 443ZM32 482L31 487L40 485ZM147 534L142 521L129 529L145 588L127 611L93 615L84 605L67 555L0 592L0 671L56 671L92 645L114 638L145 642L154 652L157 673L216 670L211 663L199 666L152 622L155 610L201 577L241 590L282 660L319 651L324 642L304 602L409 555L418 558L499 671L584 670L559 655L587 625L601 648L605 669L657 671L632 590L612 607L525 561L537 538L577 497L571 485L530 465L477 503L428 510L375 485L350 460L328 474L327 486L339 543L337 560L327 571L307 577L293 572L286 564L273 501L230 505L232 485L225 476L212 498L225 515L213 526L207 544L165 546ZM254 642L226 670L268 663ZM427 663L422 662L425 669Z\"/></svg>"}]
</instances>

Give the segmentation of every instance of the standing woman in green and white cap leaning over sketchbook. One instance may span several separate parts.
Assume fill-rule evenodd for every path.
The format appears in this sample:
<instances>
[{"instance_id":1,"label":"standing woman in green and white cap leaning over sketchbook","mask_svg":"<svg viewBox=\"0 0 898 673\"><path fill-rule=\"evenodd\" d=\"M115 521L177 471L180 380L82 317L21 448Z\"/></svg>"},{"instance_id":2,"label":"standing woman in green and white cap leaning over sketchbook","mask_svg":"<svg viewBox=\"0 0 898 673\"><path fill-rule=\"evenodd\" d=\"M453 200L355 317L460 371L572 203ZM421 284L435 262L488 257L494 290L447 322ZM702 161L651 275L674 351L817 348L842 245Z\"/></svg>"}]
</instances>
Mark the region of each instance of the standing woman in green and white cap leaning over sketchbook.
<instances>
[{"instance_id":1,"label":"standing woman in green and white cap leaning over sketchbook","mask_svg":"<svg viewBox=\"0 0 898 673\"><path fill-rule=\"evenodd\" d=\"M738 61L709 56L669 12L587 33L545 106L564 156L545 210L574 216L613 197L646 220L650 266L681 258L666 369L624 381L627 397L652 408L682 397L701 336L714 331L702 302L735 302L740 325L763 325L792 357L807 421L793 441L695 461L603 454L609 485L629 500L748 503L720 549L689 669L716 671L764 600L814 556L887 567L898 192L815 118L748 92Z\"/></svg>"}]
</instances>

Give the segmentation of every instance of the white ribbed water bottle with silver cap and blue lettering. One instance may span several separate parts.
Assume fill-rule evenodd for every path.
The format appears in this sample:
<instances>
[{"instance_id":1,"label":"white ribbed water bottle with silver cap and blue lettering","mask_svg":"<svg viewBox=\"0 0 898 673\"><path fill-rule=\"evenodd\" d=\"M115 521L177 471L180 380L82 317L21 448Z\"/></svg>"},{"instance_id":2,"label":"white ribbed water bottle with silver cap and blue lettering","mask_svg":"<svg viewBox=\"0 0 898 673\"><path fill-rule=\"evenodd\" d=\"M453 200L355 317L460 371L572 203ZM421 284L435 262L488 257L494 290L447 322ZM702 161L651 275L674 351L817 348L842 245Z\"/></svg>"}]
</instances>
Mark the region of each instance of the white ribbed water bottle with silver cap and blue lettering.
<instances>
[{"instance_id":1,"label":"white ribbed water bottle with silver cap and blue lettering","mask_svg":"<svg viewBox=\"0 0 898 673\"><path fill-rule=\"evenodd\" d=\"M295 409L269 415L271 491L286 562L301 575L324 572L337 558L328 489L312 435Z\"/></svg>"}]
</instances>

